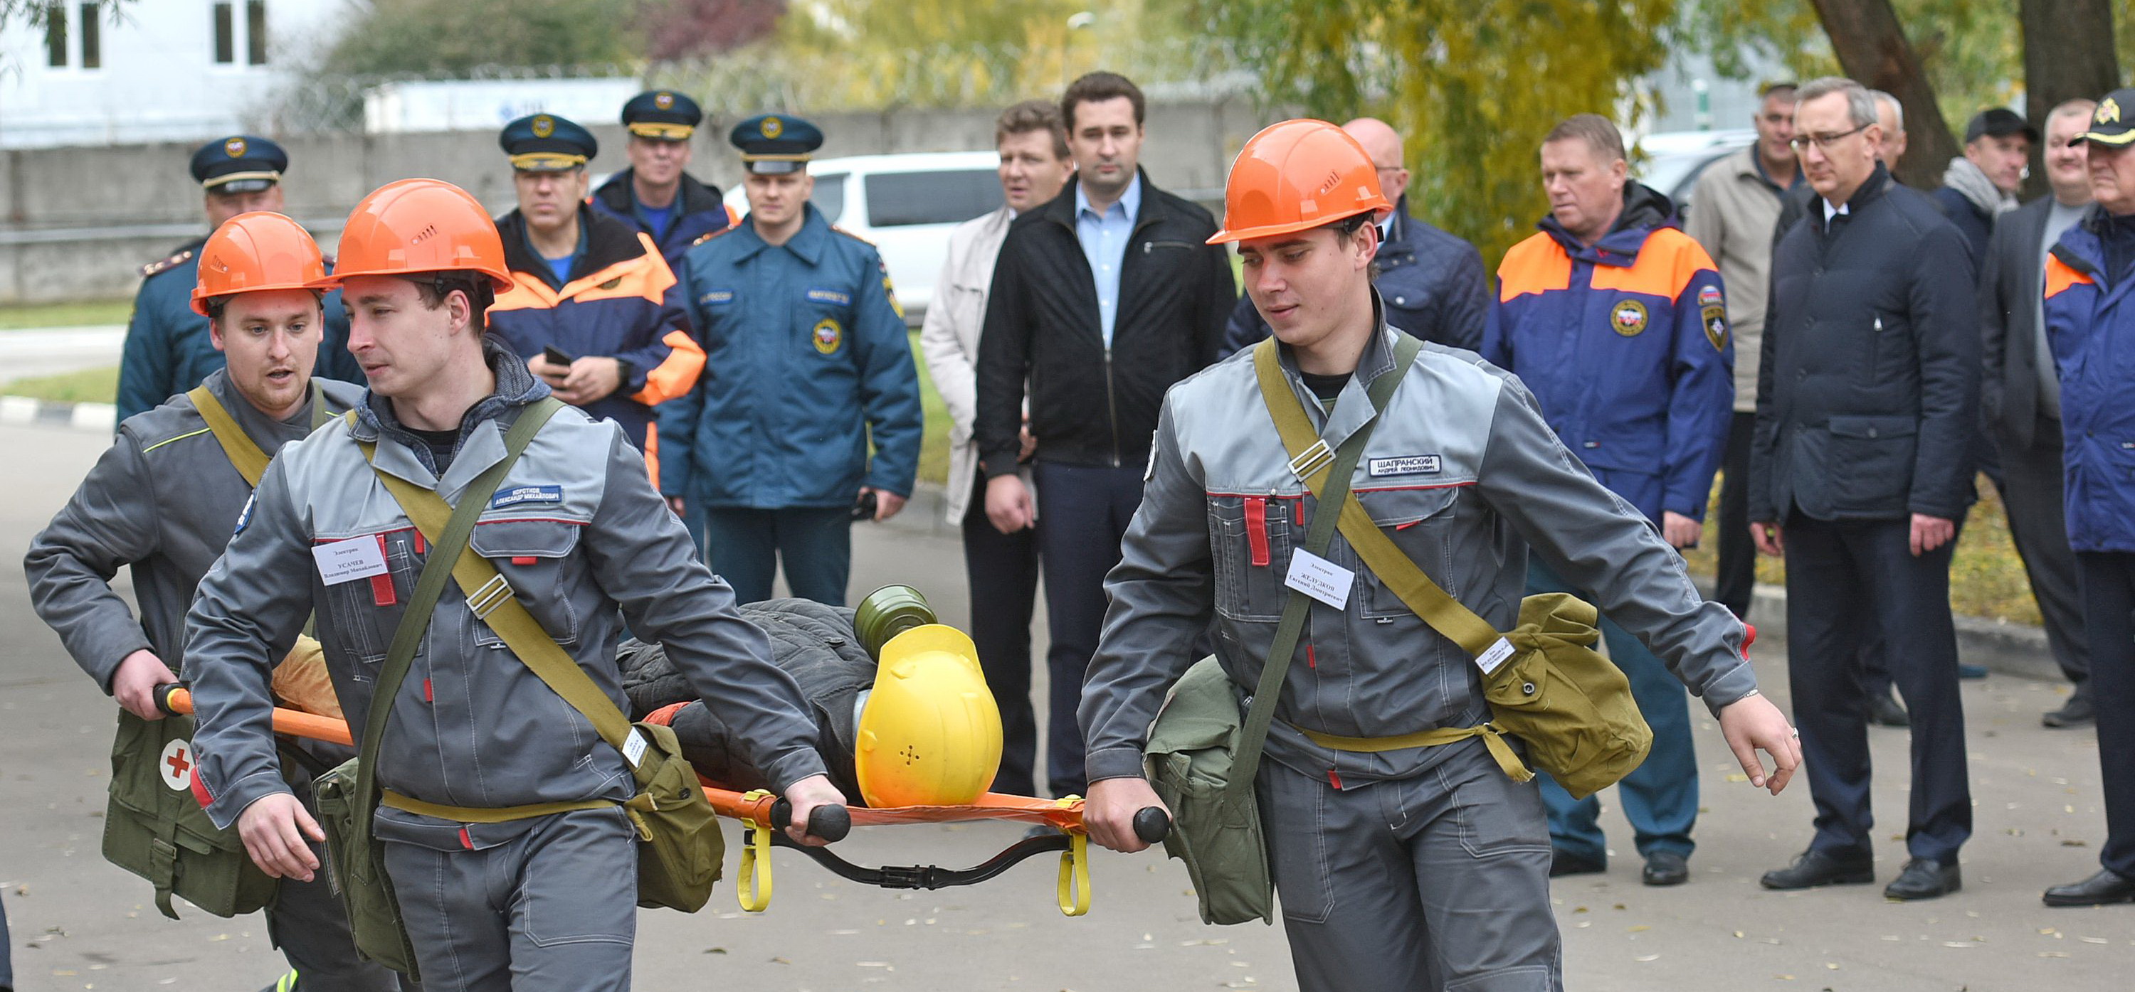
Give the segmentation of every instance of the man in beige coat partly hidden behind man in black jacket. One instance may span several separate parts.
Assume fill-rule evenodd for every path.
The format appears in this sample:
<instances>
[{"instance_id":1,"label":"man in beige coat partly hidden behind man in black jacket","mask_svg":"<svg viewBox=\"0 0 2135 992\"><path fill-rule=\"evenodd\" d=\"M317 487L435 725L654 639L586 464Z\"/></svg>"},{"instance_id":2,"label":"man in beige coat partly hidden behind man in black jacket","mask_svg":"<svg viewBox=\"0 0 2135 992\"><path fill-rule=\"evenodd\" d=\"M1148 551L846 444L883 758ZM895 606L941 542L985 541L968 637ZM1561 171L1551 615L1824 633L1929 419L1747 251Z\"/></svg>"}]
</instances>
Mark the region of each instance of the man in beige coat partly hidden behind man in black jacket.
<instances>
[{"instance_id":1,"label":"man in beige coat partly hidden behind man in black jacket","mask_svg":"<svg viewBox=\"0 0 2135 992\"><path fill-rule=\"evenodd\" d=\"M1016 213L1059 196L1074 171L1059 107L1027 100L993 128L1008 201L950 233L935 301L920 326L920 352L950 416L948 523L963 527L963 565L971 578L971 640L986 685L1001 704L1001 770L993 791L1035 796L1038 719L1031 710L1031 610L1038 602L1038 531L1001 533L986 518L986 480L978 471L971 418L978 412L978 331L986 320L993 260ZM1023 433L1023 457L1031 454ZM1029 484L1029 469L1021 471Z\"/></svg>"}]
</instances>

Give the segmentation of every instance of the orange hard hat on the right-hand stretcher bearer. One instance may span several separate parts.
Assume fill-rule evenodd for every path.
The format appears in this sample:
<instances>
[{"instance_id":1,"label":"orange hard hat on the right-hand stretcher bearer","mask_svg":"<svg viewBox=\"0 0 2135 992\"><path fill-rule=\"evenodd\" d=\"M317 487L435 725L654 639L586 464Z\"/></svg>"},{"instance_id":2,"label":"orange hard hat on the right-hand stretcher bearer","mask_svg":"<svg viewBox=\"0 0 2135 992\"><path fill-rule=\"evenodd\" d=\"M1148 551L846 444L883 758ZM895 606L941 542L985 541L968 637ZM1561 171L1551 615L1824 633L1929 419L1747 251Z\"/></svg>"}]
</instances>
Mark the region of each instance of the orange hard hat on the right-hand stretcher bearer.
<instances>
[{"instance_id":1,"label":"orange hard hat on the right-hand stretcher bearer","mask_svg":"<svg viewBox=\"0 0 2135 992\"><path fill-rule=\"evenodd\" d=\"M1223 230L1208 243L1287 235L1392 209L1364 145L1328 122L1287 119L1253 134L1230 164Z\"/></svg>"}]
</instances>

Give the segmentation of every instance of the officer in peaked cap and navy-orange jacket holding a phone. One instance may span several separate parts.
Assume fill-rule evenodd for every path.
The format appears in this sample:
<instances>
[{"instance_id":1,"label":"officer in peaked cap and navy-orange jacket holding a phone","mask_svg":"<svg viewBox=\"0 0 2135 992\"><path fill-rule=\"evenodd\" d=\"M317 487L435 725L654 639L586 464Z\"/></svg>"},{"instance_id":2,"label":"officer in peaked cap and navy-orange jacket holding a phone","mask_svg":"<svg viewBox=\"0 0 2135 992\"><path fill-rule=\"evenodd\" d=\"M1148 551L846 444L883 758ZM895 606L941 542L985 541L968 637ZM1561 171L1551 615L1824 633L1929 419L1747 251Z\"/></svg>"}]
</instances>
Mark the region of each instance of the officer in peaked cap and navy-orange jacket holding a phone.
<instances>
[{"instance_id":1,"label":"officer in peaked cap and navy-orange jacket holding a phone","mask_svg":"<svg viewBox=\"0 0 2135 992\"><path fill-rule=\"evenodd\" d=\"M675 271L651 237L585 203L585 162L600 151L589 130L532 113L497 143L519 209L497 218L512 288L489 307L489 326L557 399L621 425L658 476L651 407L705 369Z\"/></svg>"}]
</instances>

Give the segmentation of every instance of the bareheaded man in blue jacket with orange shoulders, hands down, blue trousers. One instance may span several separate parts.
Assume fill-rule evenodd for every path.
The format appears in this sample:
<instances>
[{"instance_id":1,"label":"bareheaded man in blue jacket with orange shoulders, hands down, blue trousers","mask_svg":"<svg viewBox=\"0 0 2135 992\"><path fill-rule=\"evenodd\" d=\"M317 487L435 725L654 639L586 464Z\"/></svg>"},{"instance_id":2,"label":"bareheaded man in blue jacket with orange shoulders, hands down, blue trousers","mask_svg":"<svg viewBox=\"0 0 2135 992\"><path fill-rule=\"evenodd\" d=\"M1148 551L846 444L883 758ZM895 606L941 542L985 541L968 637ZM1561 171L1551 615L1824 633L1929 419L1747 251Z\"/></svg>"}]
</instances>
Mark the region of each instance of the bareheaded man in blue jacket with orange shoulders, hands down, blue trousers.
<instances>
[{"instance_id":1,"label":"bareheaded man in blue jacket with orange shoulders, hands down, blue trousers","mask_svg":"<svg viewBox=\"0 0 2135 992\"><path fill-rule=\"evenodd\" d=\"M1505 254L1482 354L1535 393L1541 416L1612 493L1697 544L1734 416L1734 341L1712 258L1682 233L1667 196L1627 179L1623 134L1580 113L1541 141L1550 215ZM1569 591L1541 559L1529 593ZM1697 757L1682 683L1620 625L1601 619L1610 659L1631 678L1652 753L1623 779L1623 811L1646 885L1689 881ZM1552 875L1599 873L1601 800L1573 800L1541 774Z\"/></svg>"}]
</instances>

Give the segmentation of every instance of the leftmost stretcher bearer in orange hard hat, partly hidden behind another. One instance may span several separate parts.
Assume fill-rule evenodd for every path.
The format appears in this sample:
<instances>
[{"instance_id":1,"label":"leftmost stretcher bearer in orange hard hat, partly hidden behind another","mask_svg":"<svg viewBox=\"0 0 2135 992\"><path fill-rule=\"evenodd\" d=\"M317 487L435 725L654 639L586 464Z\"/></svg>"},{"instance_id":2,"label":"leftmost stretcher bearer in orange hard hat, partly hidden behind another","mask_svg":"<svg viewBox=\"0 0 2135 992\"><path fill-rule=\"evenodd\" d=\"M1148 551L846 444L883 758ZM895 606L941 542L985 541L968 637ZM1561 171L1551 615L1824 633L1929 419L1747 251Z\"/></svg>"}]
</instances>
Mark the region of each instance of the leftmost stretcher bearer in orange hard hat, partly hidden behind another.
<instances>
[{"instance_id":1,"label":"leftmost stretcher bearer in orange hard hat, partly hidden behind another","mask_svg":"<svg viewBox=\"0 0 2135 992\"><path fill-rule=\"evenodd\" d=\"M186 830L213 830L190 791L192 721L167 721L152 689L192 674L184 657L186 608L269 459L363 395L346 382L312 378L327 322L310 284L322 275L318 245L295 220L254 211L218 226L199 250L192 311L207 318L226 365L190 393L128 416L111 450L23 559L38 617L124 708L115 749L164 762L156 774L120 777L152 785L141 796L115 796L122 802L109 813L109 836L147 828L149 815L141 811ZM132 570L139 619L111 589L122 565ZM292 747L316 768L348 757L333 745ZM278 785L310 804L312 770L280 772ZM124 787L113 783L115 794ZM310 849L316 858L316 845ZM167 913L184 858L164 862L160 877L149 870ZM325 881L282 879L267 930L307 992L395 988L391 971L357 960L348 919Z\"/></svg>"}]
</instances>

